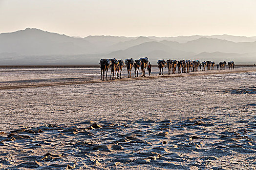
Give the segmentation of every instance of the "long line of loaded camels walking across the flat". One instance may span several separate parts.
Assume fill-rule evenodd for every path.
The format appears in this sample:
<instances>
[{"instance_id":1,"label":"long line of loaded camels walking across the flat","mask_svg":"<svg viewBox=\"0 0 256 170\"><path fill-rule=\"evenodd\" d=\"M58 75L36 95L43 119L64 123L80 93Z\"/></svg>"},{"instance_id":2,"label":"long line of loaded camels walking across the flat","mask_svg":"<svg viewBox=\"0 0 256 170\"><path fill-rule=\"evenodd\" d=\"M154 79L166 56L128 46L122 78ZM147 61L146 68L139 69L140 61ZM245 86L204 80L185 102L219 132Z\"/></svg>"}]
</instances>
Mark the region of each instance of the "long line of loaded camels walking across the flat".
<instances>
[{"instance_id":1,"label":"long line of loaded camels walking across the flat","mask_svg":"<svg viewBox=\"0 0 256 170\"><path fill-rule=\"evenodd\" d=\"M133 58L127 58L125 62L123 60L117 60L115 58L112 59L101 59L100 65L101 65L101 80L104 81L105 77L105 71L106 71L106 79L107 79L107 71L110 69L110 78L109 80L115 80L115 79L122 79L122 69L124 67L124 64L126 64L127 72L128 72L128 78L131 78L131 70L132 67L134 67L134 77L139 77L139 69L141 68L141 77L146 77L145 72L146 68L148 70L150 69L151 72L151 64L149 62L148 57L142 57L138 60L133 60ZM225 69L226 67L226 61L219 62L217 64L217 69ZM203 61L200 63L199 60L167 60L164 59L158 60L157 65L159 68L159 75L163 75L163 69L166 66L168 68L168 75L175 74L176 68L178 68L178 73L189 73L189 72L196 72L198 71L198 67L200 71L207 70L214 70L214 61ZM229 69L235 68L234 61L228 62ZM149 72L149 76L150 76Z\"/></svg>"}]
</instances>

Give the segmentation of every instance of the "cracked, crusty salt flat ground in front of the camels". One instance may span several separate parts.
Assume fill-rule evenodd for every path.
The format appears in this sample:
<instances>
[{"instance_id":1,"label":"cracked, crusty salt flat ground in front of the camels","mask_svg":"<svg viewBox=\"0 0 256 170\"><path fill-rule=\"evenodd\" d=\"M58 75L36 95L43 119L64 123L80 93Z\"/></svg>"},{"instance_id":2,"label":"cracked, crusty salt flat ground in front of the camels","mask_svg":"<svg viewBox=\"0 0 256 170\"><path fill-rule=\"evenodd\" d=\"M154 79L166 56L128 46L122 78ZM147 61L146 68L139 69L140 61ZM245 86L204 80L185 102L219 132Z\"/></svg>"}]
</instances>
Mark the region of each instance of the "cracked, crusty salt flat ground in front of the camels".
<instances>
[{"instance_id":1,"label":"cracked, crusty salt flat ground in front of the camels","mask_svg":"<svg viewBox=\"0 0 256 170\"><path fill-rule=\"evenodd\" d=\"M256 168L256 68L104 83L83 71L2 71L1 86L82 83L1 90L0 168Z\"/></svg>"}]
</instances>

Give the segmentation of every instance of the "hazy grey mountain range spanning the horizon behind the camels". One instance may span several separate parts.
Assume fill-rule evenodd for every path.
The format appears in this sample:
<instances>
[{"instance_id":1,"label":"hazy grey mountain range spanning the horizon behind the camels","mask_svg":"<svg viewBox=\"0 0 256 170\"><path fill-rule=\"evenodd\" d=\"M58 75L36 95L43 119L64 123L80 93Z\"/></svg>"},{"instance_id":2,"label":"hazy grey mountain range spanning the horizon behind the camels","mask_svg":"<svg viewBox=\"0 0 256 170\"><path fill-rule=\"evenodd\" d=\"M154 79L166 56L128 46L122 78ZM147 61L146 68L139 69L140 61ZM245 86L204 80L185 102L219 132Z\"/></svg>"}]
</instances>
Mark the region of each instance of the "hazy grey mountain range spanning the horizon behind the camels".
<instances>
[{"instance_id":1,"label":"hazy grey mountain range spanning the horizon behind the camels","mask_svg":"<svg viewBox=\"0 0 256 170\"><path fill-rule=\"evenodd\" d=\"M71 37L39 29L0 34L0 65L98 65L101 58L256 63L256 36Z\"/></svg>"}]
</instances>

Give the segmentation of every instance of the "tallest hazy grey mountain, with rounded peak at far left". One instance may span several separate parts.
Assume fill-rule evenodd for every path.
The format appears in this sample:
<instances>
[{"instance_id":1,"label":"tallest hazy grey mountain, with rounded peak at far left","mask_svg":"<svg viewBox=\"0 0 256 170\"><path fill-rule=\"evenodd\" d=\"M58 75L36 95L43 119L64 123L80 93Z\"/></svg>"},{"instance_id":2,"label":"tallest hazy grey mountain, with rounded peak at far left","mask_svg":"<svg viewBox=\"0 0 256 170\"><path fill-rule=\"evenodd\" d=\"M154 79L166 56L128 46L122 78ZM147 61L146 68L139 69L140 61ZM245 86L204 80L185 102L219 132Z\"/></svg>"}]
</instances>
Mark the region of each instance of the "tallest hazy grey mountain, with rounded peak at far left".
<instances>
[{"instance_id":1,"label":"tallest hazy grey mountain, with rounded peak at far left","mask_svg":"<svg viewBox=\"0 0 256 170\"><path fill-rule=\"evenodd\" d=\"M2 52L17 52L21 55L83 54L96 52L96 49L83 38L27 28L0 34Z\"/></svg>"}]
</instances>

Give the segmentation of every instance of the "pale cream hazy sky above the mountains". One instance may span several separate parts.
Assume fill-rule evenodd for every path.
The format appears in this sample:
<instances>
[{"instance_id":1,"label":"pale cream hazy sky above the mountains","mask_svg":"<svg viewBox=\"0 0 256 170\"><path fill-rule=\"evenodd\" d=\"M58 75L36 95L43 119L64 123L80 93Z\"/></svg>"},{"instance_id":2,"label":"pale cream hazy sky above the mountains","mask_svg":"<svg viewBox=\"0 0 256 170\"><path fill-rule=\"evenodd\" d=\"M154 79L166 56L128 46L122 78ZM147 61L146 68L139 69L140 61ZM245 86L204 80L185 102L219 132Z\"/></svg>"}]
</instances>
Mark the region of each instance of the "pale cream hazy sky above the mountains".
<instances>
[{"instance_id":1,"label":"pale cream hazy sky above the mountains","mask_svg":"<svg viewBox=\"0 0 256 170\"><path fill-rule=\"evenodd\" d=\"M256 36L256 0L0 0L0 33Z\"/></svg>"}]
</instances>

